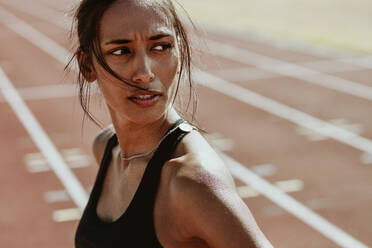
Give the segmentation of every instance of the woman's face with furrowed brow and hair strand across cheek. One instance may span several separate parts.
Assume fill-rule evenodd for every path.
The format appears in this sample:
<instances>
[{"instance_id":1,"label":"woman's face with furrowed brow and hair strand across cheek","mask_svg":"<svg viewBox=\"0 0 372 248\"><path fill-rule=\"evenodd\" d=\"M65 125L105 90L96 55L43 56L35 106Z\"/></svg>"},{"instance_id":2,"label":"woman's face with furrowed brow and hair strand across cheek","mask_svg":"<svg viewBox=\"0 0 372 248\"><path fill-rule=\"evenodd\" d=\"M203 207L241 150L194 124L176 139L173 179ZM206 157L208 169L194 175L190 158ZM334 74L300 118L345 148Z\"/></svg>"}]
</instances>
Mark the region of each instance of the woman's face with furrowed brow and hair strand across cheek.
<instances>
[{"instance_id":1,"label":"woman's face with furrowed brow and hair strand across cheek","mask_svg":"<svg viewBox=\"0 0 372 248\"><path fill-rule=\"evenodd\" d=\"M100 47L116 79L93 61L94 78L111 115L134 123L160 119L173 100L179 51L166 16L146 0L118 0L100 23Z\"/></svg>"}]
</instances>

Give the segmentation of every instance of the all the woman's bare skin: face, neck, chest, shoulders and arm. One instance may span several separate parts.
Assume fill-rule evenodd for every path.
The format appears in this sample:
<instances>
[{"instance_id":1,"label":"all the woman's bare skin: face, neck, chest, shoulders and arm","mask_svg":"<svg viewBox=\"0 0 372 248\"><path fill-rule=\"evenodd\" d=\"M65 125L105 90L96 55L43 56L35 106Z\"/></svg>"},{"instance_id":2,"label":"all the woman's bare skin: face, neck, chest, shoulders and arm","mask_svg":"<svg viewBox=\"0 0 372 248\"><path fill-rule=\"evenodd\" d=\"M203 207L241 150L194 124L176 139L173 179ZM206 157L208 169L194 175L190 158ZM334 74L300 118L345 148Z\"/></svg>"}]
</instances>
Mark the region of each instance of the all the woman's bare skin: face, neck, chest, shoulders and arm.
<instances>
[{"instance_id":1,"label":"all the woman's bare skin: face, neck, chest, shoulders and arm","mask_svg":"<svg viewBox=\"0 0 372 248\"><path fill-rule=\"evenodd\" d=\"M125 212L151 158L128 162L120 152L131 156L152 149L180 118L170 107L179 66L177 37L153 2L116 1L102 17L99 36L107 64L121 77L157 92L156 104L144 108L134 103L131 97L141 91L110 75L95 60L84 75L90 82L97 80L112 118L112 125L94 140L97 162L114 132L119 141L96 209L107 222ZM78 54L79 61L83 56ZM165 248L272 247L237 194L228 169L196 130L182 139L163 166L154 222Z\"/></svg>"}]
</instances>

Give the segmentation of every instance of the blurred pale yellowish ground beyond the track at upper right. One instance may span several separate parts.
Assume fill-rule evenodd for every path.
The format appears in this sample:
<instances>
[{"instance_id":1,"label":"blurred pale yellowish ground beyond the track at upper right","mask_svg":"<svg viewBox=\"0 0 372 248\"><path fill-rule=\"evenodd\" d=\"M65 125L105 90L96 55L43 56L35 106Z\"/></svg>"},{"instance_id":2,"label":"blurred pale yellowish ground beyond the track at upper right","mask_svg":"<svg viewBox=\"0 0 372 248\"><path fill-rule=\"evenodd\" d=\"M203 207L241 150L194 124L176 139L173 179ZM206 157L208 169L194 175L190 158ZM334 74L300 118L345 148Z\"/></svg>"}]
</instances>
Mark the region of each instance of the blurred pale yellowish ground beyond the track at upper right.
<instances>
[{"instance_id":1,"label":"blurred pale yellowish ground beyond the track at upper right","mask_svg":"<svg viewBox=\"0 0 372 248\"><path fill-rule=\"evenodd\" d=\"M371 54L372 3L368 0L179 2L193 19L241 34Z\"/></svg>"}]
</instances>

